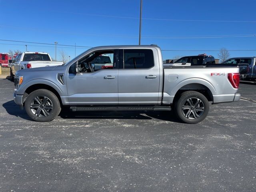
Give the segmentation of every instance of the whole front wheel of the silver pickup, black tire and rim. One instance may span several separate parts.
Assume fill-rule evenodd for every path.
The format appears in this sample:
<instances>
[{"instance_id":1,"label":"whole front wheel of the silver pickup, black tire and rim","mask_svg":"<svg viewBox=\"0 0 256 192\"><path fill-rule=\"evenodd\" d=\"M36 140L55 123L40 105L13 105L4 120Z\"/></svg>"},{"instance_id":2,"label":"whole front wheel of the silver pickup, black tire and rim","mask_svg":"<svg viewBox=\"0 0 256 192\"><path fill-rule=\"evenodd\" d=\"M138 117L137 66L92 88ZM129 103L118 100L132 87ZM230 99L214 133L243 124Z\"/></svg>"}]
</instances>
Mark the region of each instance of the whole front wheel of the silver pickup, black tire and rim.
<instances>
[{"instance_id":1,"label":"whole front wheel of the silver pickup, black tire and rim","mask_svg":"<svg viewBox=\"0 0 256 192\"><path fill-rule=\"evenodd\" d=\"M60 113L61 107L58 97L53 92L46 89L38 89L28 95L25 109L28 116L33 120L48 122L56 118Z\"/></svg>"}]
</instances>

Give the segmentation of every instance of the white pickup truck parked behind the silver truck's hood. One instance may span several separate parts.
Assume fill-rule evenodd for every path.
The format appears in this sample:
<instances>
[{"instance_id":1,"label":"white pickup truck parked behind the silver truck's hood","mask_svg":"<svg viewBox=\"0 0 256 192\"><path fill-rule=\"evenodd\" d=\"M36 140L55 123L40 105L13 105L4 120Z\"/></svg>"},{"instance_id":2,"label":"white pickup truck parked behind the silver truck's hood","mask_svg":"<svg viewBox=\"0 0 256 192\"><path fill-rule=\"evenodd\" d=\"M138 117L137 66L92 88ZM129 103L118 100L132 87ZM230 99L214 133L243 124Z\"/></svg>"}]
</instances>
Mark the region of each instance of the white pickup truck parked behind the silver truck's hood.
<instances>
[{"instance_id":1,"label":"white pickup truck parked behind the silver truck's hood","mask_svg":"<svg viewBox=\"0 0 256 192\"><path fill-rule=\"evenodd\" d=\"M10 76L14 79L16 71L21 69L62 65L63 62L52 61L48 53L44 52L23 52L18 54L10 65Z\"/></svg>"}]
</instances>

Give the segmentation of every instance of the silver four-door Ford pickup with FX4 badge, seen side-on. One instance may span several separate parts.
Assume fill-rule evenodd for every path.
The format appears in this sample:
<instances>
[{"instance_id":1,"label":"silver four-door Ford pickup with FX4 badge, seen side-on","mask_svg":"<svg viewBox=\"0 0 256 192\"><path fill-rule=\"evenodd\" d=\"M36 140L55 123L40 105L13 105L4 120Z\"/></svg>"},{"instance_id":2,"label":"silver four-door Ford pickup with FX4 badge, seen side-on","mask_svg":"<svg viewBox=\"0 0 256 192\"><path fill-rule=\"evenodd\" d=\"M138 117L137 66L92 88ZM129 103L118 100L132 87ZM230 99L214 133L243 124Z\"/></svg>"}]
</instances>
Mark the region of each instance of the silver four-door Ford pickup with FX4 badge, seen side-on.
<instances>
[{"instance_id":1,"label":"silver four-door Ford pickup with FX4 badge, seen side-on","mask_svg":"<svg viewBox=\"0 0 256 192\"><path fill-rule=\"evenodd\" d=\"M91 63L109 55L112 66ZM30 118L53 120L63 106L72 111L170 111L185 123L206 118L209 102L240 99L238 67L166 66L156 45L91 48L62 66L19 70L14 101Z\"/></svg>"}]
</instances>

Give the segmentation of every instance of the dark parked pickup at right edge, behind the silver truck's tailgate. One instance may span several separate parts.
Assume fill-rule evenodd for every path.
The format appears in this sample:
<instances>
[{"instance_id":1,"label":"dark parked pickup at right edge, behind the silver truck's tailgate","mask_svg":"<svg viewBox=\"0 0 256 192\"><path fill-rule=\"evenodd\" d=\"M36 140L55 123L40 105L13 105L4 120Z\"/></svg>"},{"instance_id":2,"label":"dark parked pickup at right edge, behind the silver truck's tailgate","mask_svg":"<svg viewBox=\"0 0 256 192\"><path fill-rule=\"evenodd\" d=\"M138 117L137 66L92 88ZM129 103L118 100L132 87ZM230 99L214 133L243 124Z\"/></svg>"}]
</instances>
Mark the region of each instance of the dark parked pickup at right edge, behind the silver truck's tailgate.
<instances>
[{"instance_id":1,"label":"dark parked pickup at right edge, behind the silver truck's tailgate","mask_svg":"<svg viewBox=\"0 0 256 192\"><path fill-rule=\"evenodd\" d=\"M240 68L241 80L256 80L256 57L235 57L223 62L223 64L236 64Z\"/></svg>"}]
</instances>

